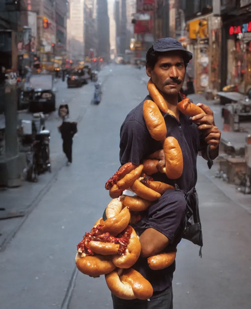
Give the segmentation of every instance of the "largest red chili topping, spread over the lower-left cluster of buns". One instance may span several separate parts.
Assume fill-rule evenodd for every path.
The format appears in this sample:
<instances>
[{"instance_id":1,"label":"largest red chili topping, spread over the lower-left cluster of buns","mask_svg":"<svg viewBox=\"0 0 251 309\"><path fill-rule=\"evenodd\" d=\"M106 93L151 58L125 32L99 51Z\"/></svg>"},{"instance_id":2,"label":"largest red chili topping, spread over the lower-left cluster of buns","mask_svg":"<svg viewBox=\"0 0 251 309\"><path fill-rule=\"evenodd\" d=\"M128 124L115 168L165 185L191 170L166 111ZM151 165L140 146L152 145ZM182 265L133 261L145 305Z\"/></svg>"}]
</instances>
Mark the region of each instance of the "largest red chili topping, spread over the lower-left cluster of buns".
<instances>
[{"instance_id":1,"label":"largest red chili topping, spread over the lower-left cluster of buns","mask_svg":"<svg viewBox=\"0 0 251 309\"><path fill-rule=\"evenodd\" d=\"M85 233L85 235L83 236L83 240L77 245L77 250L79 251L80 249L82 253L93 256L94 253L90 250L89 243L91 240L94 240L94 241L102 241L104 243L119 244L118 254L120 255L124 254L131 237L132 228L128 226L121 233L121 237L117 238L111 236L109 233L101 234L103 226L104 225L98 225L97 227L92 228L90 233Z\"/></svg>"}]
</instances>

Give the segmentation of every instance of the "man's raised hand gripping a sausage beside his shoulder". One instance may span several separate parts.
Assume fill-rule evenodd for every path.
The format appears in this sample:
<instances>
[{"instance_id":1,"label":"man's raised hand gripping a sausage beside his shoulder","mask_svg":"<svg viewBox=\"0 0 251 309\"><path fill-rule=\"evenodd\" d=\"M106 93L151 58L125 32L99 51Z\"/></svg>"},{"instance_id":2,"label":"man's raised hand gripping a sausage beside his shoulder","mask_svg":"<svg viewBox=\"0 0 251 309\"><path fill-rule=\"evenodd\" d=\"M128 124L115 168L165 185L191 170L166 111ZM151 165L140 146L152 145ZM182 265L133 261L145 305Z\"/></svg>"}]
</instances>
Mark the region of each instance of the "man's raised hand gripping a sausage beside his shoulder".
<instances>
[{"instance_id":1,"label":"man's raised hand gripping a sausage beside his shoulder","mask_svg":"<svg viewBox=\"0 0 251 309\"><path fill-rule=\"evenodd\" d=\"M198 125L198 129L202 131L207 144L211 145L210 150L216 150L219 147L221 132L215 125L214 113L205 104L199 103L197 106L202 108L205 113L194 116L192 120Z\"/></svg>"}]
</instances>

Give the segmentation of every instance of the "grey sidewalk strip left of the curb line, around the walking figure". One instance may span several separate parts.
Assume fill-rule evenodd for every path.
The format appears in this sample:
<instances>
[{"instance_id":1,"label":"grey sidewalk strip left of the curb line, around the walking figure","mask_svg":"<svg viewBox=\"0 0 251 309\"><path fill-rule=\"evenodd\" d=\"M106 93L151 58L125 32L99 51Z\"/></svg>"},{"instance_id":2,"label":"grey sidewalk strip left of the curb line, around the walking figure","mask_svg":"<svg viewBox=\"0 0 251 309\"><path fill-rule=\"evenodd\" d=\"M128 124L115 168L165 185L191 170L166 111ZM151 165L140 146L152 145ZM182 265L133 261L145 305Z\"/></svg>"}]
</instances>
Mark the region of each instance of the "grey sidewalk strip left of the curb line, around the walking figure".
<instances>
[{"instance_id":1,"label":"grey sidewalk strip left of the curb line, around the walking figure","mask_svg":"<svg viewBox=\"0 0 251 309\"><path fill-rule=\"evenodd\" d=\"M103 82L105 77L110 74L110 70L104 67L100 71L100 81ZM76 120L78 124L82 121L87 107L91 104L94 92L94 83L89 82L82 88L67 89L66 82L57 81L56 106L68 104L70 117ZM19 118L29 119L31 114L22 112ZM50 139L50 159L52 172L46 172L39 175L37 183L22 182L19 188L0 189L0 252L5 249L7 243L15 236L15 233L22 226L29 214L40 200L45 196L52 184L57 180L58 172L66 163L65 155L62 152L62 140L58 133L57 125L60 124L57 111L51 113L46 120L46 128L51 132ZM76 139L75 135L74 139Z\"/></svg>"}]
</instances>

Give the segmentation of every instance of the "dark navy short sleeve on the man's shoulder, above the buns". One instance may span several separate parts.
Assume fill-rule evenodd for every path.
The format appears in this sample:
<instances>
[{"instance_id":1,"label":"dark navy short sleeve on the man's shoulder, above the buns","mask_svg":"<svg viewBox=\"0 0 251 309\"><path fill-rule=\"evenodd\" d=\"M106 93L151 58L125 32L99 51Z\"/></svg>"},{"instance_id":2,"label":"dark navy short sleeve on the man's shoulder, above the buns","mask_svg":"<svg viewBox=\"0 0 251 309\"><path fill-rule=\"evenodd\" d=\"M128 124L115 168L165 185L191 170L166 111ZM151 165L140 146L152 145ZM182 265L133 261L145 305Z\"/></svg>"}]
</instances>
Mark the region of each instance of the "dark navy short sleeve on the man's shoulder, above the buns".
<instances>
[{"instance_id":1,"label":"dark navy short sleeve on the man's shoulder, above the buns","mask_svg":"<svg viewBox=\"0 0 251 309\"><path fill-rule=\"evenodd\" d=\"M139 164L149 148L149 132L136 120L128 120L120 130L120 163Z\"/></svg>"}]
</instances>

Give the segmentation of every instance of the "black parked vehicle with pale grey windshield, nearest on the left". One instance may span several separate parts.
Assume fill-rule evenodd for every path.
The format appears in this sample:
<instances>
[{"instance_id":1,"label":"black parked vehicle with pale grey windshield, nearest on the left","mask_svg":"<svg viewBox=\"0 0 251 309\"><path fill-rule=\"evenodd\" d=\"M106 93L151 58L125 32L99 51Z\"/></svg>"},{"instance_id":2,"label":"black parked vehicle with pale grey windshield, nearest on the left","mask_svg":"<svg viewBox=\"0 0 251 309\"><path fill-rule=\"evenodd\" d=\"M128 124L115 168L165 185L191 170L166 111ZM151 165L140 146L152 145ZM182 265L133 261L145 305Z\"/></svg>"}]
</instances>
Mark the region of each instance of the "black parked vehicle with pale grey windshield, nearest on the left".
<instances>
[{"instance_id":1,"label":"black parked vehicle with pale grey windshield, nearest on the left","mask_svg":"<svg viewBox=\"0 0 251 309\"><path fill-rule=\"evenodd\" d=\"M30 78L29 85L21 93L22 105L30 112L53 112L56 109L56 96L53 92L53 76L36 74Z\"/></svg>"}]
</instances>

